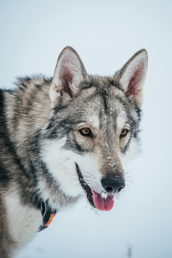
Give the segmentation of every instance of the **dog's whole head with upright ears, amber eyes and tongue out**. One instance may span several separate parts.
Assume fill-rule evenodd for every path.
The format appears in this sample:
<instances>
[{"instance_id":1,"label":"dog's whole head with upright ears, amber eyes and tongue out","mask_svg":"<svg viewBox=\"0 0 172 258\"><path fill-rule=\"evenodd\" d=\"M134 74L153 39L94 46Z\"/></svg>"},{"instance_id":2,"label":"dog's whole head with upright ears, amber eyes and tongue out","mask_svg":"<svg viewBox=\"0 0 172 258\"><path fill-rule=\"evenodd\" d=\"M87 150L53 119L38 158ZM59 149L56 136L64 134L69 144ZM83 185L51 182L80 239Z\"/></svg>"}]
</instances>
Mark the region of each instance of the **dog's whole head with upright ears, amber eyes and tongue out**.
<instances>
[{"instance_id":1,"label":"dog's whole head with upright ears, amber eyes and tongue out","mask_svg":"<svg viewBox=\"0 0 172 258\"><path fill-rule=\"evenodd\" d=\"M92 206L113 207L114 195L125 187L124 157L138 139L147 63L142 49L112 77L91 76L75 50L61 52L41 155L66 195L84 189Z\"/></svg>"}]
</instances>

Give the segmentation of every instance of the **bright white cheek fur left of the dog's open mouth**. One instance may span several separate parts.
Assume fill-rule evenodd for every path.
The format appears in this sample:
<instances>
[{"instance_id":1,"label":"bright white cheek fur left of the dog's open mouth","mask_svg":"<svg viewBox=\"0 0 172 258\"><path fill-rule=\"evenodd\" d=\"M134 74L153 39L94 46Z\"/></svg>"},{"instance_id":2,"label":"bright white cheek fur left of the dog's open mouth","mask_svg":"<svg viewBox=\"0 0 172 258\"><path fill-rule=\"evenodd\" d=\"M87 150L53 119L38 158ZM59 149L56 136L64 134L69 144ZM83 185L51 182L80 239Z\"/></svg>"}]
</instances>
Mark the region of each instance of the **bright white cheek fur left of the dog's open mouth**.
<instances>
[{"instance_id":1,"label":"bright white cheek fur left of the dog's open mouth","mask_svg":"<svg viewBox=\"0 0 172 258\"><path fill-rule=\"evenodd\" d=\"M78 196L83 192L76 171L76 159L72 151L64 150L66 138L43 142L42 157L50 173L60 184L60 189L69 196ZM78 156L78 155L77 155Z\"/></svg>"}]
</instances>

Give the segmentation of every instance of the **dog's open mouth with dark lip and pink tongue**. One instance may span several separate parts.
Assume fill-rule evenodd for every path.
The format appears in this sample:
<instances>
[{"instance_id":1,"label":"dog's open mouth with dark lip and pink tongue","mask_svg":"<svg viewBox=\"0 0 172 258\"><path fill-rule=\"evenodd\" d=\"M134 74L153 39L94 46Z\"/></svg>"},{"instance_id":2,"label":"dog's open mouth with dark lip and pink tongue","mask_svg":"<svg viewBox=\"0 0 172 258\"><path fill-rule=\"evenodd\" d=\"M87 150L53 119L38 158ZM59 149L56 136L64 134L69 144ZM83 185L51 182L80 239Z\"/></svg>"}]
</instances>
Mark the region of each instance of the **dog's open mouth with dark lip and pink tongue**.
<instances>
[{"instance_id":1,"label":"dog's open mouth with dark lip and pink tongue","mask_svg":"<svg viewBox=\"0 0 172 258\"><path fill-rule=\"evenodd\" d=\"M87 193L87 199L89 203L94 207L97 208L100 211L110 211L113 207L114 200L113 200L113 195L106 195L105 197L102 197L100 193L96 193L93 191L88 184L84 181L83 175L79 169L79 166L77 163L76 164L76 170L78 173L79 177L79 182L82 186L82 188L85 190Z\"/></svg>"}]
</instances>

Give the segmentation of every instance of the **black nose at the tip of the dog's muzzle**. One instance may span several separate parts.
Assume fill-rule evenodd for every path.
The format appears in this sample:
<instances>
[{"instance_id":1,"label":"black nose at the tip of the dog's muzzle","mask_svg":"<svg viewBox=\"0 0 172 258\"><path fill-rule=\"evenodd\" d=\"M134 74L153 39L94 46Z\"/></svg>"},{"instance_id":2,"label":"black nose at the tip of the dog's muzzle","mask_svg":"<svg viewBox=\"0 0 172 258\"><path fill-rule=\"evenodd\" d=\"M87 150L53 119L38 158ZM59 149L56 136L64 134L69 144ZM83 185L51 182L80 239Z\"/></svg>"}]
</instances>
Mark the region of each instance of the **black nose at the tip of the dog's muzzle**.
<instances>
[{"instance_id":1,"label":"black nose at the tip of the dog's muzzle","mask_svg":"<svg viewBox=\"0 0 172 258\"><path fill-rule=\"evenodd\" d=\"M108 193L118 193L125 187L125 180L119 177L106 177L102 179L102 186Z\"/></svg>"}]
</instances>

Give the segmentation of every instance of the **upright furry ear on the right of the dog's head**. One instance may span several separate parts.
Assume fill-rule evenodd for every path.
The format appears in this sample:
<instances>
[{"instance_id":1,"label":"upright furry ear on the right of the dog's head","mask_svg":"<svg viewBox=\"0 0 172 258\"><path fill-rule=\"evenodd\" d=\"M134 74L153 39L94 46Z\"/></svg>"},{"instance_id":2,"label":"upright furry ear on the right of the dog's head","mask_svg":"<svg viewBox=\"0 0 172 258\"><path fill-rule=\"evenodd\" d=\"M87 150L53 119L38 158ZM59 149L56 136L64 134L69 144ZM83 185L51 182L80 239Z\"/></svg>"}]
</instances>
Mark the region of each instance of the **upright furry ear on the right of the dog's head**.
<instances>
[{"instance_id":1,"label":"upright furry ear on the right of the dog's head","mask_svg":"<svg viewBox=\"0 0 172 258\"><path fill-rule=\"evenodd\" d=\"M141 49L117 72L117 82L124 90L130 100L133 100L137 107L142 104L142 89L146 78L148 66L148 53Z\"/></svg>"}]
</instances>

